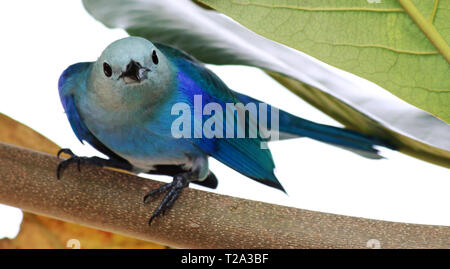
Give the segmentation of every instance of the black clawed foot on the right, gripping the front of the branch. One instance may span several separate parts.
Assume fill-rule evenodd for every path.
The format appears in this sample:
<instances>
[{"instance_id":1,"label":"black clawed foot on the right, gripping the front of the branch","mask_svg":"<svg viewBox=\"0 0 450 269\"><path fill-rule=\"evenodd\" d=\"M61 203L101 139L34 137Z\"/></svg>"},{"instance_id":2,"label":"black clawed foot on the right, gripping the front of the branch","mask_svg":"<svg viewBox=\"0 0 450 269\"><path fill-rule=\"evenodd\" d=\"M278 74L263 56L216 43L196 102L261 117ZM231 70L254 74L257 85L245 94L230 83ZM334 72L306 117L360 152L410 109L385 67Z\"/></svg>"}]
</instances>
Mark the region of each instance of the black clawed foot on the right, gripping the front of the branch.
<instances>
[{"instance_id":1,"label":"black clawed foot on the right, gripping the front of the branch","mask_svg":"<svg viewBox=\"0 0 450 269\"><path fill-rule=\"evenodd\" d=\"M150 220L148 221L148 224L151 225L154 218L156 218L159 215L164 215L165 212L170 209L177 198L180 196L181 191L186 188L189 185L189 181L184 176L184 174L176 175L173 177L173 181L171 183L168 183L164 186L161 186L155 190L152 190L147 195L144 196L144 203L151 197L151 196L157 196L165 191L167 191L167 194L164 196L163 200L159 204L159 206L155 209L153 212L153 215L151 216Z\"/></svg>"}]
</instances>

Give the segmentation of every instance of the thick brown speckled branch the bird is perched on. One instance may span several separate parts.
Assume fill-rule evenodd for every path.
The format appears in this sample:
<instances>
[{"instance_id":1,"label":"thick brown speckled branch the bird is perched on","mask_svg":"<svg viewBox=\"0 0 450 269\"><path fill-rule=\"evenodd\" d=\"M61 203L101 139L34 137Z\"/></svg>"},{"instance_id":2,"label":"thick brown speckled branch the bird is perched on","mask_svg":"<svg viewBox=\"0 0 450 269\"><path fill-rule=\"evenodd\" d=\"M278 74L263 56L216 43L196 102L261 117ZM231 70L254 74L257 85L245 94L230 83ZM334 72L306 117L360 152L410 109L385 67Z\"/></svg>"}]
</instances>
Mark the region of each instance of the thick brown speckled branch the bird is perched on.
<instances>
[{"instance_id":1,"label":"thick brown speckled branch the bird is perched on","mask_svg":"<svg viewBox=\"0 0 450 269\"><path fill-rule=\"evenodd\" d=\"M160 183L83 166L55 177L54 156L0 143L0 203L180 248L448 248L450 227L346 217L186 189L147 225Z\"/></svg>"}]
</instances>

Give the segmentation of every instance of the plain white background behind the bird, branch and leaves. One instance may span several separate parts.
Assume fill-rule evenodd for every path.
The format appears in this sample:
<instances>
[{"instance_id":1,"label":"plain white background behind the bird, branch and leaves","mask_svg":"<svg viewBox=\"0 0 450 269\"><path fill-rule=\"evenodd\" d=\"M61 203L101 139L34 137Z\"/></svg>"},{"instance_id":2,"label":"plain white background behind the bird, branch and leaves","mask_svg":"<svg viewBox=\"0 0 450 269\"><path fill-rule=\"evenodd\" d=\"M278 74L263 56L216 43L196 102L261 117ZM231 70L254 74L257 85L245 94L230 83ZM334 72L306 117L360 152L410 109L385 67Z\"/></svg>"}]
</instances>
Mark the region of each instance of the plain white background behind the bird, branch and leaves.
<instances>
[{"instance_id":1,"label":"plain white background behind the bird, branch and leaves","mask_svg":"<svg viewBox=\"0 0 450 269\"><path fill-rule=\"evenodd\" d=\"M125 37L91 18L81 1L8 1L0 10L0 112L79 155L95 150L72 133L57 81L70 64L95 61ZM255 68L211 66L232 89L310 120L339 125ZM367 160L310 139L271 143L276 174L288 195L211 160L219 193L322 212L373 219L450 225L448 169L383 149ZM0 206L0 238L14 237L17 209Z\"/></svg>"}]
</instances>

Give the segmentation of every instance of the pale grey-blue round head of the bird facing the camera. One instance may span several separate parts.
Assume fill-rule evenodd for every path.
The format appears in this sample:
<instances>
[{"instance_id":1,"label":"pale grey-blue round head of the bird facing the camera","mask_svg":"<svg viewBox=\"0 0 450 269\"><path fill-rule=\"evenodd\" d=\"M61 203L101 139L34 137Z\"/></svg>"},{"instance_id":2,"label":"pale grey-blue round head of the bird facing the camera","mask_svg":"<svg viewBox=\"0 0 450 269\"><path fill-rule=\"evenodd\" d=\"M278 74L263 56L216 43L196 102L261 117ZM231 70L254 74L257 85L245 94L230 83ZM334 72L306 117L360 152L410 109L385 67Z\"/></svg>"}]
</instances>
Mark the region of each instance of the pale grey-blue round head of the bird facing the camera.
<instances>
[{"instance_id":1,"label":"pale grey-blue round head of the bird facing the camera","mask_svg":"<svg viewBox=\"0 0 450 269\"><path fill-rule=\"evenodd\" d=\"M137 106L140 102L156 102L164 95L171 80L170 68L153 43L127 37L106 47L94 64L90 80L103 103Z\"/></svg>"}]
</instances>

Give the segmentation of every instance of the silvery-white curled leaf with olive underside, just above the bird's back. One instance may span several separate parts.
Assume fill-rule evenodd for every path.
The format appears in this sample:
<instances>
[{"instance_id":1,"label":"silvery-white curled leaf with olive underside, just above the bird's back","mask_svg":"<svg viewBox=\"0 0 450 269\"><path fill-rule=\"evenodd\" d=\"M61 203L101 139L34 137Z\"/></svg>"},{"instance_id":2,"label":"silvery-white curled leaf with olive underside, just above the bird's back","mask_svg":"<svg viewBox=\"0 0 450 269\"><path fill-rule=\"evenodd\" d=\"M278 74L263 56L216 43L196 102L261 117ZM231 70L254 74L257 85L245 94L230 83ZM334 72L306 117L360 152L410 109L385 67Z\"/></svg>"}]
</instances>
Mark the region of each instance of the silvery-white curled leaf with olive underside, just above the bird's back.
<instances>
[{"instance_id":1,"label":"silvery-white curled leaf with olive underside, just above the bird's back","mask_svg":"<svg viewBox=\"0 0 450 269\"><path fill-rule=\"evenodd\" d=\"M108 27L171 44L203 62L262 68L345 126L386 138L406 154L450 166L450 125L379 87L263 38L220 13L187 0L83 3Z\"/></svg>"}]
</instances>

